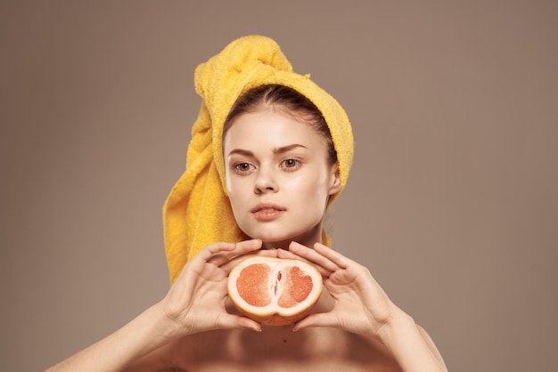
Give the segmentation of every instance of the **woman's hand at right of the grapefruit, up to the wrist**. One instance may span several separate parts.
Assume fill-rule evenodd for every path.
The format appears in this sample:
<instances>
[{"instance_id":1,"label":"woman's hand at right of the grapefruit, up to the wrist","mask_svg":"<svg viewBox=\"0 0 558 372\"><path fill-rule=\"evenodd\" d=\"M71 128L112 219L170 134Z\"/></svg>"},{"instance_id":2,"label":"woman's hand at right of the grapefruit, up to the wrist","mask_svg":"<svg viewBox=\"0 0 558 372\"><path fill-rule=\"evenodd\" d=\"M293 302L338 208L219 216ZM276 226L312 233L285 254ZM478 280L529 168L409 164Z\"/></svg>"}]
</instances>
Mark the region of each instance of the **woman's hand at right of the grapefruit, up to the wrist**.
<instances>
[{"instance_id":1,"label":"woman's hand at right of the grapefruit, up to the wrist","mask_svg":"<svg viewBox=\"0 0 558 372\"><path fill-rule=\"evenodd\" d=\"M292 242L289 252L279 255L285 258L296 255L314 263L334 300L331 311L311 314L295 324L294 329L333 327L363 336L378 336L392 315L399 311L365 266L332 248L316 243L314 249L310 249Z\"/></svg>"}]
</instances>

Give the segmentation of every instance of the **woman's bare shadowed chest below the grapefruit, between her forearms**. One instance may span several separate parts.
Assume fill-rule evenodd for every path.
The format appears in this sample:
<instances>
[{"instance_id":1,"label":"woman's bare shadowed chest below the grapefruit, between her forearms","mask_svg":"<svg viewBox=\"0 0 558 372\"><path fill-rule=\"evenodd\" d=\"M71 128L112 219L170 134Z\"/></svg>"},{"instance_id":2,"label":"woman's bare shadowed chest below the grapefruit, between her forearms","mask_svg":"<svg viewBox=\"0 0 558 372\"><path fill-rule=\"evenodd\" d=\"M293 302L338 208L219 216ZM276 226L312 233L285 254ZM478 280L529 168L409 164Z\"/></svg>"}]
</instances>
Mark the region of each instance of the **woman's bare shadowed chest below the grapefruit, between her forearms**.
<instances>
[{"instance_id":1,"label":"woman's bare shadowed chest below the grapefruit, between her forearms","mask_svg":"<svg viewBox=\"0 0 558 372\"><path fill-rule=\"evenodd\" d=\"M215 331L185 339L173 353L185 371L391 371L378 345L331 328Z\"/></svg>"}]
</instances>

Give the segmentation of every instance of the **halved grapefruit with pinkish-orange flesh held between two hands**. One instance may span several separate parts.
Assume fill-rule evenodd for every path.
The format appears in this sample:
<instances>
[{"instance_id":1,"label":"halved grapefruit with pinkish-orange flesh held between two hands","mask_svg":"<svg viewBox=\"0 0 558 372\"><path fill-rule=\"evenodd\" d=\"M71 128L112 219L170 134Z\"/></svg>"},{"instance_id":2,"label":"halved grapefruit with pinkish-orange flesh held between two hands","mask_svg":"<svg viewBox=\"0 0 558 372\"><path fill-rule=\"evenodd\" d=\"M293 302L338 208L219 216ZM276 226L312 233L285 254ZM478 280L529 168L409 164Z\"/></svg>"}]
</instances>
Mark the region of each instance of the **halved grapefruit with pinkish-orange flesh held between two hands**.
<instances>
[{"instance_id":1,"label":"halved grapefruit with pinkish-orange flesh held between two hands","mask_svg":"<svg viewBox=\"0 0 558 372\"><path fill-rule=\"evenodd\" d=\"M322 275L310 263L252 256L230 272L228 295L250 319L283 326L308 315L322 293L322 285Z\"/></svg>"}]
</instances>

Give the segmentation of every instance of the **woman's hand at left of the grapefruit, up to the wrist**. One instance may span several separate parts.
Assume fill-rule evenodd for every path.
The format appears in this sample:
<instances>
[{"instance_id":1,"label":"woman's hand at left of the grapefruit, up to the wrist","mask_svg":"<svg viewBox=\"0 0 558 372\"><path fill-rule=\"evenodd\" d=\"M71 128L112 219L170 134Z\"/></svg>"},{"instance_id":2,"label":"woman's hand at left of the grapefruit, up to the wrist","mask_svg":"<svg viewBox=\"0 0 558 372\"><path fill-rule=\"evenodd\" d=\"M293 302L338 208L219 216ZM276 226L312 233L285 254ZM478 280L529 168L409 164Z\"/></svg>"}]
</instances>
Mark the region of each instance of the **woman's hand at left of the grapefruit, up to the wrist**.
<instances>
[{"instance_id":1,"label":"woman's hand at left of the grapefruit, up to the wrist","mask_svg":"<svg viewBox=\"0 0 558 372\"><path fill-rule=\"evenodd\" d=\"M160 305L176 336L218 328L261 330L258 322L226 311L228 274L239 255L257 251L261 240L216 243L201 249L185 267Z\"/></svg>"}]
</instances>

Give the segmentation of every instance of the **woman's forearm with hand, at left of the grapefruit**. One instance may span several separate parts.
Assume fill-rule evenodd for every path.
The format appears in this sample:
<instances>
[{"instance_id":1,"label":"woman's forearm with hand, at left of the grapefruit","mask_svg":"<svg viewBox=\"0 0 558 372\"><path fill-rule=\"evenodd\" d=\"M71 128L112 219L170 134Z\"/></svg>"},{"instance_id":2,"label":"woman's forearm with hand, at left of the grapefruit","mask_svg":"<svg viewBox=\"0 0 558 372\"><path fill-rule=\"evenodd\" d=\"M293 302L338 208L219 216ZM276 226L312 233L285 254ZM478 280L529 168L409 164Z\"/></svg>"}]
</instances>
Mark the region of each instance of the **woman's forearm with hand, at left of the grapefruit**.
<instances>
[{"instance_id":1,"label":"woman's forearm with hand, at left of the grapefruit","mask_svg":"<svg viewBox=\"0 0 558 372\"><path fill-rule=\"evenodd\" d=\"M185 265L160 303L47 371L121 371L183 336L217 328L260 330L257 322L229 314L225 309L227 276L238 260L233 257L259 247L261 241L248 240L203 248Z\"/></svg>"}]
</instances>

